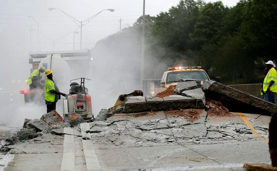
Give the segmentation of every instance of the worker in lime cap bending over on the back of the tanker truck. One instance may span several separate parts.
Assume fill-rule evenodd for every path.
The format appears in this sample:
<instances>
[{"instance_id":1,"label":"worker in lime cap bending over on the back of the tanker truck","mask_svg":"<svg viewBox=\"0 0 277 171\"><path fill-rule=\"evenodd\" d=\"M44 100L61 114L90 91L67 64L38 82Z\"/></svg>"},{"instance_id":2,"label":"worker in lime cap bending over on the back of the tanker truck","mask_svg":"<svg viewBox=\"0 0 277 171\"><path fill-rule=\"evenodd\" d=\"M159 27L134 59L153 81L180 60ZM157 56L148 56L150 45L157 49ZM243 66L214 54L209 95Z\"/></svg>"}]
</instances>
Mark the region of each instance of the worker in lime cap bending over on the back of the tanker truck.
<instances>
[{"instance_id":1,"label":"worker in lime cap bending over on the back of the tanker truck","mask_svg":"<svg viewBox=\"0 0 277 171\"><path fill-rule=\"evenodd\" d=\"M31 73L27 81L27 84L29 84L30 90L43 88L43 85L40 83L40 80L42 79L42 76L40 76L40 73L43 73L44 71L45 71L45 67L42 66L40 69L35 69Z\"/></svg>"}]
</instances>

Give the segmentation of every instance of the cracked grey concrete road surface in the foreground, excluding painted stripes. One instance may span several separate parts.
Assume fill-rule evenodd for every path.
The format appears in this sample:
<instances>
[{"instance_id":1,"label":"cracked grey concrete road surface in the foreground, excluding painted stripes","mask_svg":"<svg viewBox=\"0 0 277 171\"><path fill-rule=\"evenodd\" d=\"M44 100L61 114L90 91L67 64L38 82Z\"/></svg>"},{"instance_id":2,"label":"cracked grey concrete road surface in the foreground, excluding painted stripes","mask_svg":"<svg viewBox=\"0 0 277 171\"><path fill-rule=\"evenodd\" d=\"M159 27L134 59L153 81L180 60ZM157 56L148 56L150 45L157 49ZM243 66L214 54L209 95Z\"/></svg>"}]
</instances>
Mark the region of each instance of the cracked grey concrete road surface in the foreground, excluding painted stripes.
<instances>
[{"instance_id":1,"label":"cracked grey concrete road surface in the foreground, excluding painted stripes","mask_svg":"<svg viewBox=\"0 0 277 171\"><path fill-rule=\"evenodd\" d=\"M240 116L233 114L215 117L203 110L191 122L189 117L164 111L139 116L121 113L90 122L86 133L101 170L244 170L245 162L270 162L268 142L255 138ZM271 117L244 115L260 136L268 138ZM86 170L81 128L72 129L75 170ZM7 146L15 157L5 170L60 170L63 145L57 143L64 136L43 134Z\"/></svg>"}]
</instances>

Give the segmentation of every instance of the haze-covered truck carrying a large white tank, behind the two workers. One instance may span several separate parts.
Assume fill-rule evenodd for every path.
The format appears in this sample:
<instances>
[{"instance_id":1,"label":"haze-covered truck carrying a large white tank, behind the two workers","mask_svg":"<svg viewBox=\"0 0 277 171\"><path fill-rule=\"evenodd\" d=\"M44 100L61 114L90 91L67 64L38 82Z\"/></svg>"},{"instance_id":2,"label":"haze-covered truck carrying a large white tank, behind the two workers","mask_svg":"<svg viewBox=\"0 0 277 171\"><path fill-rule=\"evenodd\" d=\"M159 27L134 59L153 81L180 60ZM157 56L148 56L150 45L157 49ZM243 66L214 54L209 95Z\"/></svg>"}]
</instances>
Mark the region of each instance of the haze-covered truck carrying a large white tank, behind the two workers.
<instances>
[{"instance_id":1,"label":"haze-covered truck carrying a large white tank, behind the two workers","mask_svg":"<svg viewBox=\"0 0 277 171\"><path fill-rule=\"evenodd\" d=\"M88 69L91 59L89 50L29 52L28 63L32 64L30 73L42 66L44 66L45 69L53 71L54 79L60 88L68 84L72 75L75 76L76 73L81 74L80 67ZM44 84L46 76L44 73L41 73L41 76L41 83ZM29 77L29 75L26 77ZM26 87L27 86L26 84ZM44 88L39 90L26 89L20 90L20 94L24 94L25 104L45 105L44 91ZM63 92L61 88L60 91Z\"/></svg>"}]
</instances>

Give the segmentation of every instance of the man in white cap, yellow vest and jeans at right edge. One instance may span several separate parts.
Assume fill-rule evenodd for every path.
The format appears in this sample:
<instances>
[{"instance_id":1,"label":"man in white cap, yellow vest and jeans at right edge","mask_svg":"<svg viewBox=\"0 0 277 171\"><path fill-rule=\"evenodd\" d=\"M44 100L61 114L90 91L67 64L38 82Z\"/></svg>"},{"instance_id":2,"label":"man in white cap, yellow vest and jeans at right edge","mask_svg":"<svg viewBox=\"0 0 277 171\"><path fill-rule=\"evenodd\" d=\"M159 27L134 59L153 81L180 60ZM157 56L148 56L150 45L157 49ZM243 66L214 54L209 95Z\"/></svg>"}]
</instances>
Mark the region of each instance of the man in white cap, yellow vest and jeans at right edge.
<instances>
[{"instance_id":1,"label":"man in white cap, yellow vest and jeans at right edge","mask_svg":"<svg viewBox=\"0 0 277 171\"><path fill-rule=\"evenodd\" d=\"M274 63L271 60L269 60L265 64L268 72L263 81L263 88L261 90L261 93L263 93L264 100L275 103L274 97L277 92L277 72L276 69L274 69Z\"/></svg>"}]
</instances>

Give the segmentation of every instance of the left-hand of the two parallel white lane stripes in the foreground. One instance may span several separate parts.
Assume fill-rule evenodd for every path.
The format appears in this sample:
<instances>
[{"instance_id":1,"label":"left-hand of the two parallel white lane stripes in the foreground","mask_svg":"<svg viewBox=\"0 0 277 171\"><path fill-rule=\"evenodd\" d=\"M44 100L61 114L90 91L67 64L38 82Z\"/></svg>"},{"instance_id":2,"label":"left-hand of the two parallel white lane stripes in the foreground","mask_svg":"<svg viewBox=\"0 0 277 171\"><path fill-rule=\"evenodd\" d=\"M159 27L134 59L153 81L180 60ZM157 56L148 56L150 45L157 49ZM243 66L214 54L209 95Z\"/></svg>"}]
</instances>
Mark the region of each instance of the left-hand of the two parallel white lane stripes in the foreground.
<instances>
[{"instance_id":1,"label":"left-hand of the two parallel white lane stripes in the foreground","mask_svg":"<svg viewBox=\"0 0 277 171\"><path fill-rule=\"evenodd\" d=\"M67 135L67 134L73 134L73 129L64 128L63 133L66 133L66 134L64 135L64 140L63 140L63 160L61 162L61 171L74 170L75 168L74 135Z\"/></svg>"}]
</instances>

